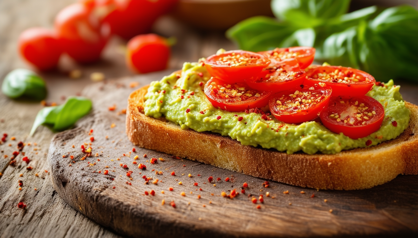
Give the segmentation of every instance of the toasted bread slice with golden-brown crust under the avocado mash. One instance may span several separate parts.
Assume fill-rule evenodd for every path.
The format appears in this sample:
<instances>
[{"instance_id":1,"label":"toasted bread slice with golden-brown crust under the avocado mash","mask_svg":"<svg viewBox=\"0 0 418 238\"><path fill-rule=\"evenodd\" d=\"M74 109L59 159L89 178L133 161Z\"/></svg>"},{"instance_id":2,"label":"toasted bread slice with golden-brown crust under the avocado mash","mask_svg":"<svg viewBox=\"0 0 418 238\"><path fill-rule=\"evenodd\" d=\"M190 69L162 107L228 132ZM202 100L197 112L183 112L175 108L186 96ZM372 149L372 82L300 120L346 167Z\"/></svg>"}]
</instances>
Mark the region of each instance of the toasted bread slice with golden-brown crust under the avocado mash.
<instances>
[{"instance_id":1,"label":"toasted bread slice with golden-brown crust under the avocado mash","mask_svg":"<svg viewBox=\"0 0 418 238\"><path fill-rule=\"evenodd\" d=\"M148 86L128 98L126 132L135 145L259 178L317 189L352 190L418 174L418 106L406 103L410 125L394 140L334 155L287 154L241 145L216 133L182 130L164 118L144 115Z\"/></svg>"}]
</instances>

